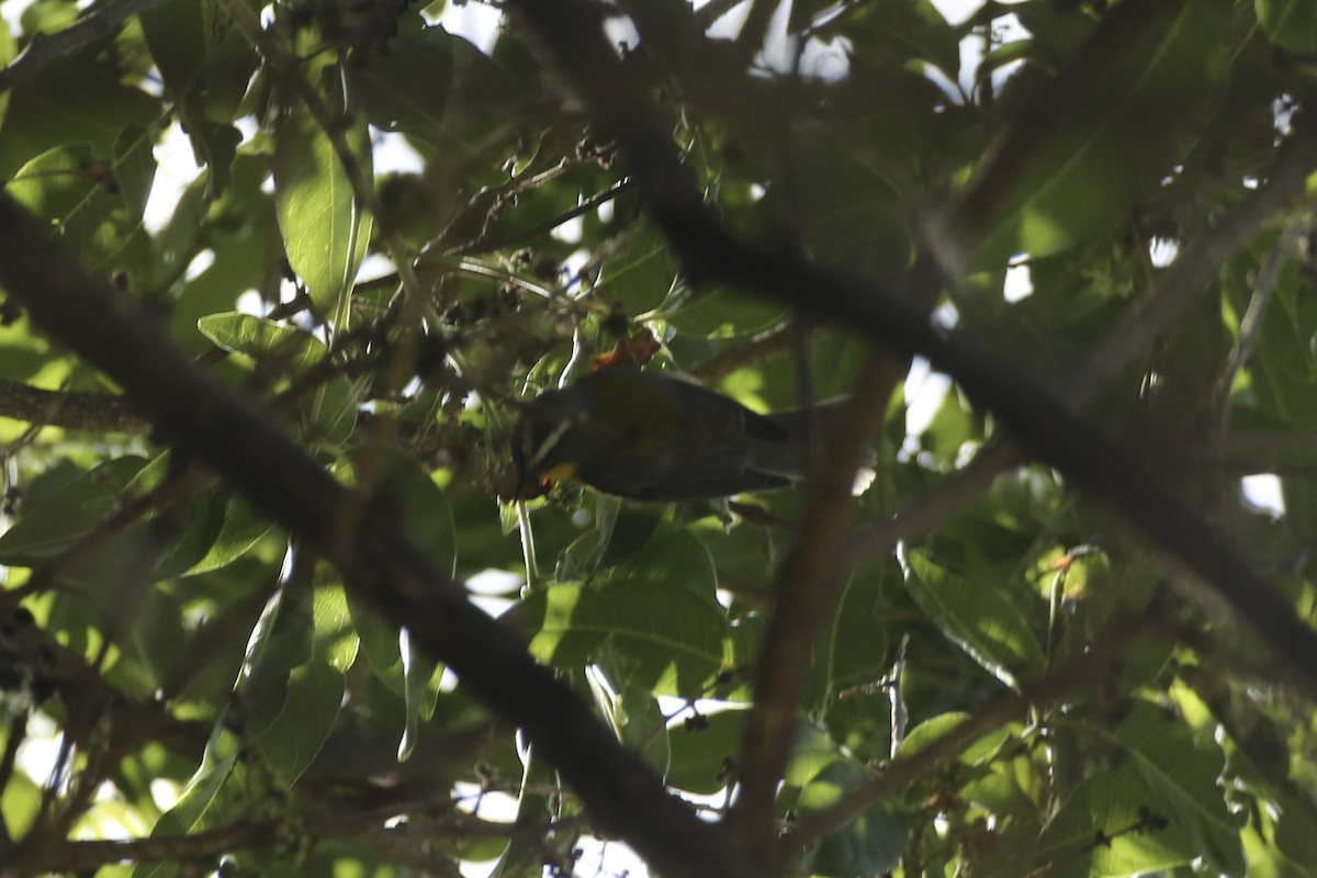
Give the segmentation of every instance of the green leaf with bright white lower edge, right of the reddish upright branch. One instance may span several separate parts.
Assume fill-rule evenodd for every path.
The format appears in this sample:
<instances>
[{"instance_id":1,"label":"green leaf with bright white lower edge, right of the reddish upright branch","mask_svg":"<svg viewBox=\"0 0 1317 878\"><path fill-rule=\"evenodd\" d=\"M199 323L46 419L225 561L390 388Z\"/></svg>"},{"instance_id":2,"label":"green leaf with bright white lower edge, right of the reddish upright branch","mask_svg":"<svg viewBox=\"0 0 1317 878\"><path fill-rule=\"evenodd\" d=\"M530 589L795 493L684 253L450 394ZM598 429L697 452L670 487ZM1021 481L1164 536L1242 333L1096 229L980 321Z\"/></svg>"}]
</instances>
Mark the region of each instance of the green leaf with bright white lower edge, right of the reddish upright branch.
<instances>
[{"instance_id":1,"label":"green leaf with bright white lower edge, right of the reddish upright branch","mask_svg":"<svg viewBox=\"0 0 1317 878\"><path fill-rule=\"evenodd\" d=\"M1015 690L1042 673L1043 652L1029 623L990 583L971 582L918 549L901 565L919 608L984 670Z\"/></svg>"}]
</instances>

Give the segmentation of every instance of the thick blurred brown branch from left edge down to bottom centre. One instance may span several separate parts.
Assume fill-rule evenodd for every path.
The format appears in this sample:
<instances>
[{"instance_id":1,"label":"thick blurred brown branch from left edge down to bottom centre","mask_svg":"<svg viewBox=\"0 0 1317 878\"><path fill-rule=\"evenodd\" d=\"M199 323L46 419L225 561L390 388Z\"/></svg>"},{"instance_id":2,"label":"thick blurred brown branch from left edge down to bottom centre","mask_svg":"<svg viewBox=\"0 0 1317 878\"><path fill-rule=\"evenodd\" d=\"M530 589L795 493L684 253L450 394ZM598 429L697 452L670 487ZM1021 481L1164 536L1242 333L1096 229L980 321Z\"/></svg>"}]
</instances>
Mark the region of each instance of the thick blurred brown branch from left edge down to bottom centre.
<instances>
[{"instance_id":1,"label":"thick blurred brown branch from left edge down to bottom centre","mask_svg":"<svg viewBox=\"0 0 1317 878\"><path fill-rule=\"evenodd\" d=\"M603 832L657 870L748 875L723 833L668 795L523 641L466 600L403 536L387 502L362 509L250 405L198 370L136 304L90 278L41 225L0 195L0 286L33 323L104 370L161 434L230 480L331 559L358 595L448 663L475 696L523 728Z\"/></svg>"}]
</instances>

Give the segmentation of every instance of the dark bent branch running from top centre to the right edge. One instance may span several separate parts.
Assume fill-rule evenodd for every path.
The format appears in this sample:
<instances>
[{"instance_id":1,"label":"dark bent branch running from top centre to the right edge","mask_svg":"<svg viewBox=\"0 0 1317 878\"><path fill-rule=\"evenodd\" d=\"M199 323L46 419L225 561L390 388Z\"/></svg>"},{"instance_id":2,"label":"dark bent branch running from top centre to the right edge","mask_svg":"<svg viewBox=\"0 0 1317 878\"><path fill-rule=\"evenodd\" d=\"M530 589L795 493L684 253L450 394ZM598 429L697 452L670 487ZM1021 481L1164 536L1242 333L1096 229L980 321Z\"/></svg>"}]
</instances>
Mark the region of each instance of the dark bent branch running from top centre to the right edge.
<instances>
[{"instance_id":1,"label":"dark bent branch running from top centre to the right edge","mask_svg":"<svg viewBox=\"0 0 1317 878\"><path fill-rule=\"evenodd\" d=\"M798 251L766 251L734 237L705 207L669 134L670 120L655 111L641 83L619 63L599 7L587 0L510 0L508 5L540 36L601 128L618 140L687 276L790 304L897 354L927 357L977 404L996 412L1031 454L1197 574L1317 690L1317 633L1146 466L1079 421L1038 379L938 325L927 309L881 284L817 266Z\"/></svg>"}]
</instances>

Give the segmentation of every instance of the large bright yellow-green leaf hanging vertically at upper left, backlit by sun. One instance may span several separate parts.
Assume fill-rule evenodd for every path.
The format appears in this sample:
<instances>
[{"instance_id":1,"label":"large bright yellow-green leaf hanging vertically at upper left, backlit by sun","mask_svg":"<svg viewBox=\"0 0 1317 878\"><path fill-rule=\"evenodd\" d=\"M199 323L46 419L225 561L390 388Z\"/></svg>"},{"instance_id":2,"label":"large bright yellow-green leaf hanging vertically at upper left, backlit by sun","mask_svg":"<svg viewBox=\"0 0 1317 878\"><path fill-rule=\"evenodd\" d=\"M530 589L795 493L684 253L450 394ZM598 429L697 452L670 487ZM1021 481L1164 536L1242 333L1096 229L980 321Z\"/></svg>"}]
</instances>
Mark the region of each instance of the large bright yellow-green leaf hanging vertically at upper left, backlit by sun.
<instances>
[{"instance_id":1,"label":"large bright yellow-green leaf hanging vertically at upper left, backlit by sun","mask_svg":"<svg viewBox=\"0 0 1317 878\"><path fill-rule=\"evenodd\" d=\"M345 128L342 134L369 182L370 136L365 121ZM288 265L307 284L312 301L332 309L348 292L366 254L370 215L357 204L352 179L329 136L304 109L292 111L284 120L274 167L274 200Z\"/></svg>"}]
</instances>

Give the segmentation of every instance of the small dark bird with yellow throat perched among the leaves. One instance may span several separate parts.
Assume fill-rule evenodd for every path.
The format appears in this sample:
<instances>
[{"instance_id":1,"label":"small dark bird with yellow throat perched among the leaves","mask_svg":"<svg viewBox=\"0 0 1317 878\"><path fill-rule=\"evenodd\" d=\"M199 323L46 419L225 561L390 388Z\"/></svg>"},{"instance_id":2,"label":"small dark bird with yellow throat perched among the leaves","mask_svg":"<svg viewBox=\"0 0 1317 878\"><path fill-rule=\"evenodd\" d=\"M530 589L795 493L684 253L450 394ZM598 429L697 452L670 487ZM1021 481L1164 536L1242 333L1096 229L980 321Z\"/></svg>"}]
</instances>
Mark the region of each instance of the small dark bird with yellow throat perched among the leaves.
<instances>
[{"instance_id":1,"label":"small dark bird with yellow throat perched among the leaves","mask_svg":"<svg viewBox=\"0 0 1317 878\"><path fill-rule=\"evenodd\" d=\"M760 415L685 378L602 369L525 404L512 441L515 496L562 479L651 502L785 488L809 470L809 430L820 448L846 401ZM868 466L855 494L872 480Z\"/></svg>"}]
</instances>

